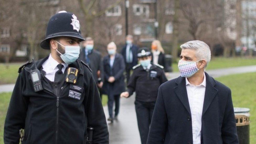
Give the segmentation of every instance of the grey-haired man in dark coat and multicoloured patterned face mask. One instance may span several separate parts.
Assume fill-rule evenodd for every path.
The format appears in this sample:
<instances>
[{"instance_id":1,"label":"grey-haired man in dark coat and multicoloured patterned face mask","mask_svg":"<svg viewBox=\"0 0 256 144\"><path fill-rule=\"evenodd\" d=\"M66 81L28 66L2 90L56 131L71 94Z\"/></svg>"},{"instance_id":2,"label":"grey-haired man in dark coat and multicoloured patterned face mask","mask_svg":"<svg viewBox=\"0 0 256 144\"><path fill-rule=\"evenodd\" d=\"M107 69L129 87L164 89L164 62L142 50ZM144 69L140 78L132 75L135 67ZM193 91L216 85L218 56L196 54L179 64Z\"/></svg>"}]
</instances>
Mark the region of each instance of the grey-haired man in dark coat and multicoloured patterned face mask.
<instances>
[{"instance_id":1,"label":"grey-haired man in dark coat and multicoloured patterned face mask","mask_svg":"<svg viewBox=\"0 0 256 144\"><path fill-rule=\"evenodd\" d=\"M160 86L147 144L238 144L231 90L205 72L209 46L180 47L181 76Z\"/></svg>"}]
</instances>

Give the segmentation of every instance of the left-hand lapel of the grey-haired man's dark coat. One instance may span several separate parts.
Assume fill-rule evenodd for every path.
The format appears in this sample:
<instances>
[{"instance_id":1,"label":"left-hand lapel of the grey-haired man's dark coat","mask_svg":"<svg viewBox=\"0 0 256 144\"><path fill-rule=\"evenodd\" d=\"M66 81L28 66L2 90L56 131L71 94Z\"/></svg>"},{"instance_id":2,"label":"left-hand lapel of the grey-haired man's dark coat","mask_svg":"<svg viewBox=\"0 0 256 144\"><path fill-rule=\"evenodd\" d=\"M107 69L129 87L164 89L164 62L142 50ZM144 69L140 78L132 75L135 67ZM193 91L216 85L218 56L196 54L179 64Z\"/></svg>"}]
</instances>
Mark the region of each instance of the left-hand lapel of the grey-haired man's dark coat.
<instances>
[{"instance_id":1,"label":"left-hand lapel of the grey-haired man's dark coat","mask_svg":"<svg viewBox=\"0 0 256 144\"><path fill-rule=\"evenodd\" d=\"M174 89L175 93L177 94L178 98L186 108L186 110L191 115L190 107L189 107L189 101L188 101L188 94L186 90L186 81L183 77L178 77L176 83L178 86L176 86Z\"/></svg>"}]
</instances>

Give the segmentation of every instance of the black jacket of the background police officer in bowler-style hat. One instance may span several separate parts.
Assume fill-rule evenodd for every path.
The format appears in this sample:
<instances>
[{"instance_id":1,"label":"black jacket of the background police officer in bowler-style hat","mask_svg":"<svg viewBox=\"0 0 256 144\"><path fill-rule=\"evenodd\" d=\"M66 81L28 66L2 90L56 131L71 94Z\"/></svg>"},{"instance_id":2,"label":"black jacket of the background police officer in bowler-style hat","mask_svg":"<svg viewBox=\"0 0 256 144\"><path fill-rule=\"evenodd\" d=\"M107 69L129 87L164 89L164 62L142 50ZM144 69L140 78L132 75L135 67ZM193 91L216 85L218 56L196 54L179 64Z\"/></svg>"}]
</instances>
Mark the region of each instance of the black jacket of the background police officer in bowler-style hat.
<instances>
[{"instance_id":1,"label":"black jacket of the background police officer in bowler-style hat","mask_svg":"<svg viewBox=\"0 0 256 144\"><path fill-rule=\"evenodd\" d=\"M135 91L136 100L142 102L156 101L159 86L167 81L163 67L152 64L150 70L146 71L138 64L133 69L134 71L127 85L129 96Z\"/></svg>"}]
</instances>

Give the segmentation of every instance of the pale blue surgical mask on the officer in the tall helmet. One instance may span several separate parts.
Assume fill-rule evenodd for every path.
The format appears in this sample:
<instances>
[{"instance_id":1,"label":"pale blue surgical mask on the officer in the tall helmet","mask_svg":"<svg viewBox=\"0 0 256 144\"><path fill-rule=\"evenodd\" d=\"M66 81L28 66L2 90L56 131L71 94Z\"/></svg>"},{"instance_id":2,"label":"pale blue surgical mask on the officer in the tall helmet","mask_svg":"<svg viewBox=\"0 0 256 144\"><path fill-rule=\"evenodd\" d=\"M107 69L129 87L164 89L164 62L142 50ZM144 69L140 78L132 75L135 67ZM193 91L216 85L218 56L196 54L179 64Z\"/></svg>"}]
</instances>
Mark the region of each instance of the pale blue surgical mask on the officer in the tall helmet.
<instances>
[{"instance_id":1,"label":"pale blue surgical mask on the officer in the tall helmet","mask_svg":"<svg viewBox=\"0 0 256 144\"><path fill-rule=\"evenodd\" d=\"M62 45L58 41L56 41L58 44ZM80 47L79 46L64 46L65 47L65 54L61 54L57 49L56 51L60 54L61 59L66 64L71 64L77 60L80 54Z\"/></svg>"}]
</instances>

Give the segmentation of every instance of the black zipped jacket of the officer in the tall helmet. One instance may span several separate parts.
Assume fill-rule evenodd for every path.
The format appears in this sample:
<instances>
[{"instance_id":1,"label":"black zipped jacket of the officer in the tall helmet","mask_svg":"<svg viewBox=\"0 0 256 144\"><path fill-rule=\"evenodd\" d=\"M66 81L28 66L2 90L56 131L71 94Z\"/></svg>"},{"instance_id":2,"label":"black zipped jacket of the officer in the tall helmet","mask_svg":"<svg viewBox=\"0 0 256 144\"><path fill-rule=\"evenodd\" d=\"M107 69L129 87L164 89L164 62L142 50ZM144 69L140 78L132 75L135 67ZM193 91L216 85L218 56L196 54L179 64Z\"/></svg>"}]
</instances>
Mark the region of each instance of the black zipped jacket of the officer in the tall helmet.
<instances>
[{"instance_id":1,"label":"black zipped jacket of the officer in the tall helmet","mask_svg":"<svg viewBox=\"0 0 256 144\"><path fill-rule=\"evenodd\" d=\"M47 58L36 61L38 69ZM20 129L25 129L22 143L26 144L86 143L88 126L94 128L94 144L109 143L103 107L90 69L80 60L68 67L79 70L77 83L64 82L57 95L46 87L34 92L29 73L35 69L32 63L20 71L4 125L5 144L19 143Z\"/></svg>"}]
</instances>

